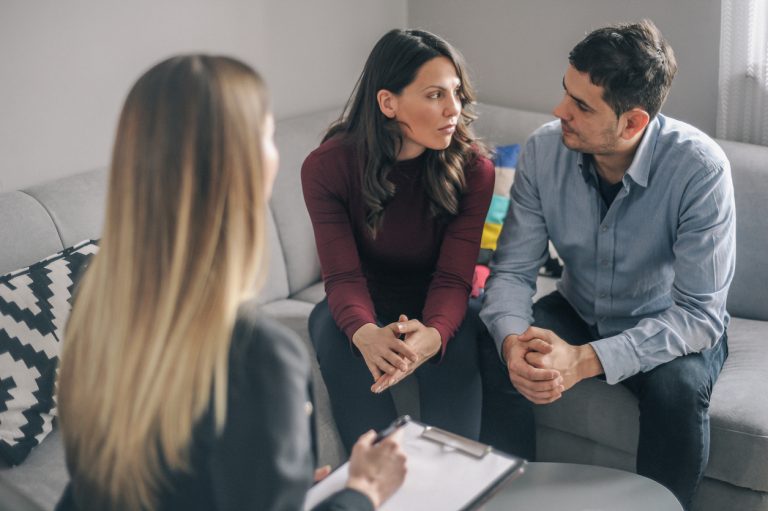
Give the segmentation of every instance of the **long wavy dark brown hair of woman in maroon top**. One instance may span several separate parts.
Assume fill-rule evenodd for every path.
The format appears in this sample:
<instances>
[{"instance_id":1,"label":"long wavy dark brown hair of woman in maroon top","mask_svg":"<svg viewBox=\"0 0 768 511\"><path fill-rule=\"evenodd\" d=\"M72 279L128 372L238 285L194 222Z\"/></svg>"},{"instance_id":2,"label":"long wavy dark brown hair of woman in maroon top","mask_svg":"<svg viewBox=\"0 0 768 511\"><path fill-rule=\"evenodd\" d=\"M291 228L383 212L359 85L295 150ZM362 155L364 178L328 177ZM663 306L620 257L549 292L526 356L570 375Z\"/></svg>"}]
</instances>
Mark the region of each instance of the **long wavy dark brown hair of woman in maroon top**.
<instances>
[{"instance_id":1,"label":"long wavy dark brown hair of woman in maroon top","mask_svg":"<svg viewBox=\"0 0 768 511\"><path fill-rule=\"evenodd\" d=\"M374 237L381 226L384 209L395 193L387 175L395 165L403 143L399 123L381 112L376 94L381 89L399 94L414 80L424 63L441 56L447 57L456 67L461 81L462 110L448 148L441 151L427 149L426 171L422 179L429 196L430 211L435 217L458 214L466 183L464 169L478 153L485 154L485 149L470 130L475 119L470 109L475 93L464 60L440 37L423 30L387 32L371 50L341 117L331 125L323 139L341 134L355 143L362 169L366 224Z\"/></svg>"}]
</instances>

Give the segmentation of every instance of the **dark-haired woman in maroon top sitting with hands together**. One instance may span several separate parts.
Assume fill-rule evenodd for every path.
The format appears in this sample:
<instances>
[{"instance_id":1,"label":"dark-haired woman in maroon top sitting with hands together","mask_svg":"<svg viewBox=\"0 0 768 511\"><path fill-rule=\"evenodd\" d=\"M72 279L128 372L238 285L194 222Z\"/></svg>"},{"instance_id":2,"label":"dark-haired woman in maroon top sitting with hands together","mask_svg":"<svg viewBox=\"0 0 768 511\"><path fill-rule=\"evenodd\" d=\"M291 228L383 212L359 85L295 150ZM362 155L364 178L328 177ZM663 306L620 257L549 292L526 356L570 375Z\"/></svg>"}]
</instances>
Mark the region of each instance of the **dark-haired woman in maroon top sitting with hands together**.
<instances>
[{"instance_id":1,"label":"dark-haired woman in maroon top sitting with hands together","mask_svg":"<svg viewBox=\"0 0 768 511\"><path fill-rule=\"evenodd\" d=\"M392 420L386 390L414 372L423 421L479 435L467 303L494 170L469 129L473 99L447 42L392 30L302 167L327 294L309 330L347 448Z\"/></svg>"}]
</instances>

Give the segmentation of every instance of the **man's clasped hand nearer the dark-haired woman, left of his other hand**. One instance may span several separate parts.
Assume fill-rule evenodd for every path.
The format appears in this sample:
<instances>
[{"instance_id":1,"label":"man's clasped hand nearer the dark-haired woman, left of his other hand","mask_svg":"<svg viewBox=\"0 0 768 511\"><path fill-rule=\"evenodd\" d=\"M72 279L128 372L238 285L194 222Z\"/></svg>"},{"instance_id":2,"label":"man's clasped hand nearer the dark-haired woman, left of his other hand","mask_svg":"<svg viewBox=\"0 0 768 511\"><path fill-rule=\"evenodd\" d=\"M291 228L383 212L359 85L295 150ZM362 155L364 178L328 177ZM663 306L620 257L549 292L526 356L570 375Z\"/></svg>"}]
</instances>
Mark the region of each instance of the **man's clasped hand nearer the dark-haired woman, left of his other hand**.
<instances>
[{"instance_id":1,"label":"man's clasped hand nearer the dark-haired woman, left of his other hand","mask_svg":"<svg viewBox=\"0 0 768 511\"><path fill-rule=\"evenodd\" d=\"M538 348L542 353L552 351L552 346L547 343L539 345ZM526 360L529 350L529 343L520 341L518 335L511 334L504 338L502 352L512 385L526 399L536 404L547 404L560 399L563 393L563 378L560 372L532 365Z\"/></svg>"}]
</instances>

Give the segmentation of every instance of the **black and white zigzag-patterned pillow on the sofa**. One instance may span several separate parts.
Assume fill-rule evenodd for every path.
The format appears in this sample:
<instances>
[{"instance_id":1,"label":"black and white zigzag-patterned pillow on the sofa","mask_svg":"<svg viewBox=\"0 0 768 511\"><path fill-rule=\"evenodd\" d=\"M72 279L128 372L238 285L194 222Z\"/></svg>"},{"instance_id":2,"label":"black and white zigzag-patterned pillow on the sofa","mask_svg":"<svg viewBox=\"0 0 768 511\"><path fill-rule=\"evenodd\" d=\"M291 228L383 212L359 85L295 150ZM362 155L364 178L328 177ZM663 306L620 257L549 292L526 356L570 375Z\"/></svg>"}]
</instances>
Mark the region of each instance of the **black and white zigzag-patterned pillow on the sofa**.
<instances>
[{"instance_id":1,"label":"black and white zigzag-patterned pillow on the sofa","mask_svg":"<svg viewBox=\"0 0 768 511\"><path fill-rule=\"evenodd\" d=\"M0 276L0 457L10 465L24 461L53 428L72 292L97 250L86 240Z\"/></svg>"}]
</instances>

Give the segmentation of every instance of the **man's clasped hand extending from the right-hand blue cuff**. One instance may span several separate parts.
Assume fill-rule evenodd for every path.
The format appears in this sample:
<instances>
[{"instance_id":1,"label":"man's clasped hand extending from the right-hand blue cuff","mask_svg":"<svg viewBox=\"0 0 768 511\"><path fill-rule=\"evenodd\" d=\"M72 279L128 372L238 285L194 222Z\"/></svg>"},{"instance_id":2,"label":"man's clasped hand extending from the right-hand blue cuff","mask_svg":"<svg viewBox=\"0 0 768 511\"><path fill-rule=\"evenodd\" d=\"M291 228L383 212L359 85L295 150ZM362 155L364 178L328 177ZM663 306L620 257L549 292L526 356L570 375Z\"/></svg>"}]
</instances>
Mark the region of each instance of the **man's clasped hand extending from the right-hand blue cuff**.
<instances>
[{"instance_id":1,"label":"man's clasped hand extending from the right-hand blue cuff","mask_svg":"<svg viewBox=\"0 0 768 511\"><path fill-rule=\"evenodd\" d=\"M525 360L539 369L554 369L562 376L562 392L585 378L603 373L603 366L590 344L573 346L552 330L529 327L518 337L527 346Z\"/></svg>"}]
</instances>

